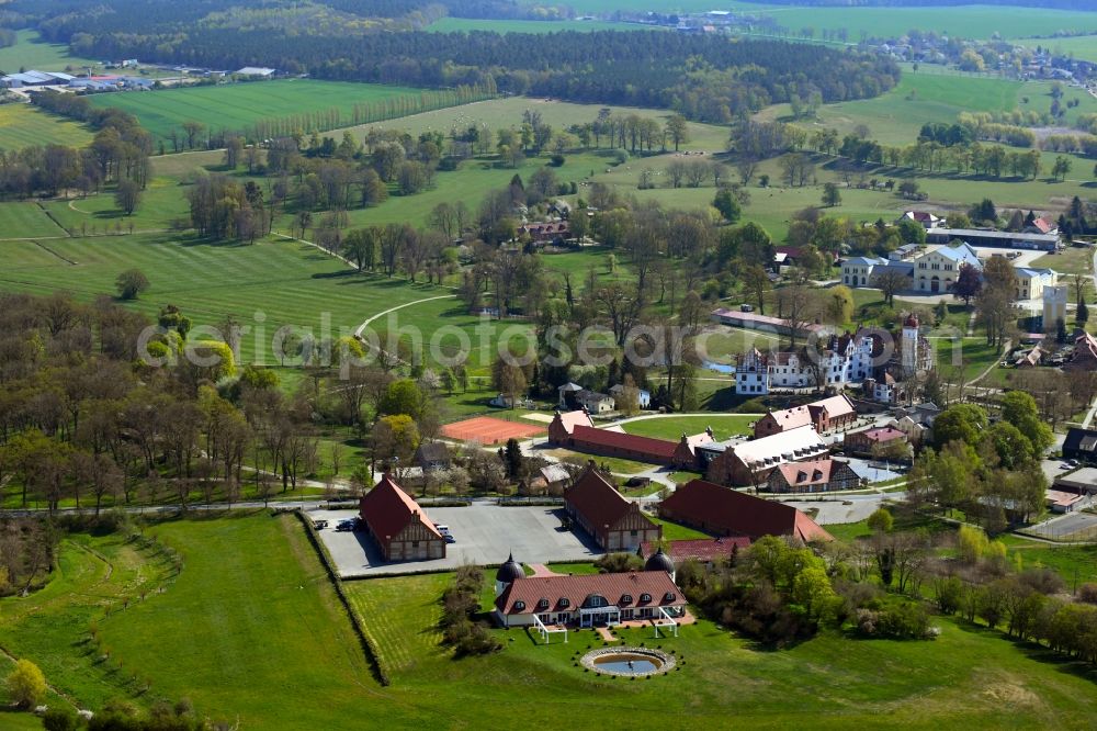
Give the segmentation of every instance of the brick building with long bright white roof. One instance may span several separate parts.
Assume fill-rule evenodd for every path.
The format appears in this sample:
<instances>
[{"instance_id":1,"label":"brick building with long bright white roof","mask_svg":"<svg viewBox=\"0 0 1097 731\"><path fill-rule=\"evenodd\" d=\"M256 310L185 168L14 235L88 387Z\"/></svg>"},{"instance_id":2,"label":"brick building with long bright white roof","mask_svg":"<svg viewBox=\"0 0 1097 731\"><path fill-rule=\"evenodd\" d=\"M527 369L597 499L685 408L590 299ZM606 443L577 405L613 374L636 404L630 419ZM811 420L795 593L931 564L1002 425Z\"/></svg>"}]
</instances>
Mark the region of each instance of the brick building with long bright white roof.
<instances>
[{"instance_id":1,"label":"brick building with long bright white roof","mask_svg":"<svg viewBox=\"0 0 1097 731\"><path fill-rule=\"evenodd\" d=\"M705 477L722 485L757 485L779 464L803 462L827 453L827 446L812 426L802 426L739 443L705 445L710 454Z\"/></svg>"}]
</instances>

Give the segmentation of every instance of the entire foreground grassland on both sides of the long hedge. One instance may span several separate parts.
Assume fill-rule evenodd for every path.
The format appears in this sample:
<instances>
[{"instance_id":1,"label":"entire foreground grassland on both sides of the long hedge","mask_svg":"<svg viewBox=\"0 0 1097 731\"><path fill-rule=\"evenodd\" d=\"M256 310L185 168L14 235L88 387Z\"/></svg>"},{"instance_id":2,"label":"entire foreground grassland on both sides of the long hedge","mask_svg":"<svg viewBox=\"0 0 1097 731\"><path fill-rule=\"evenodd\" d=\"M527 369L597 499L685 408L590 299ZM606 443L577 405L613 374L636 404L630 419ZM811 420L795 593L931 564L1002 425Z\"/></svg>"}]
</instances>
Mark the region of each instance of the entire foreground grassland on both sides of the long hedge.
<instances>
[{"instance_id":1,"label":"entire foreground grassland on both sides of the long hedge","mask_svg":"<svg viewBox=\"0 0 1097 731\"><path fill-rule=\"evenodd\" d=\"M70 561L44 592L0 601L4 641L33 645L26 655L52 683L70 684L81 705L94 706L115 683L116 695L126 697L122 681L135 674L151 688L133 698L138 705L186 696L203 715L263 729L342 728L362 719L384 719L393 729L499 728L533 718L595 728L627 712L688 729L722 727L730 718L750 728L789 728L808 715L821 729L1083 729L1097 711L1092 668L942 618L935 620L941 629L935 641L824 633L780 651L758 650L708 620L660 640L651 629L615 630L626 643L661 645L683 659L680 671L649 681L613 681L575 667L575 653L601 644L589 630L550 645L524 630L494 630L501 652L454 660L439 644L437 626L452 574L346 584L389 671L392 685L382 687L293 517L260 511L176 520L146 533L177 550L184 569L163 594L100 622L110 663L124 671L109 674L99 690L102 671L72 642L88 634L79 608L109 594L94 588L103 586L101 564L83 559L84 577ZM132 581L132 570L121 567L133 564L115 558L124 547L111 548L111 539L92 546L116 566L110 585ZM485 587L482 606L490 600ZM30 603L43 608L12 610ZM46 630L36 637L15 630L31 627ZM20 726L11 728L33 728L13 718Z\"/></svg>"}]
</instances>

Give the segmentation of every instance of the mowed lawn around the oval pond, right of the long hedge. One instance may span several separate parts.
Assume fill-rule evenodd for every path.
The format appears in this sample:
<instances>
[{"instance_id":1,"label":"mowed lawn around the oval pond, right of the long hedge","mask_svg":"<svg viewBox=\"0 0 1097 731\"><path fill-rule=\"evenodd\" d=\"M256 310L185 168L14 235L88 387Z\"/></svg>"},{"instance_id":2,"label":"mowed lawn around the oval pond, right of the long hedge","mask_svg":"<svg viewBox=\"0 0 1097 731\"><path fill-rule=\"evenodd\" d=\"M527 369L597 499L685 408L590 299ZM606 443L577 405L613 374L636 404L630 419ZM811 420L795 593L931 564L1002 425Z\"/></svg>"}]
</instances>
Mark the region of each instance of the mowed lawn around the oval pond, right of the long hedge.
<instances>
[{"instance_id":1,"label":"mowed lawn around the oval pond, right of the long hedge","mask_svg":"<svg viewBox=\"0 0 1097 731\"><path fill-rule=\"evenodd\" d=\"M1081 729L1097 710L1093 681L1073 664L950 619L935 621L942 632L932 642L828 633L773 652L755 650L706 620L659 640L651 629L615 630L627 644L657 644L685 659L681 671L649 681L596 677L574 666L576 653L601 646L591 631L544 645L525 630L496 630L500 653L453 660L438 646L436 627L437 603L450 582L451 574L440 574L347 586L355 606L372 609L363 616L366 631L415 657L395 671L391 690L418 697L418 708L451 727L501 728L535 718L596 728L643 715L676 729L726 728L730 719L734 728L790 728L806 718L825 729ZM398 709L386 721L404 726Z\"/></svg>"}]
</instances>

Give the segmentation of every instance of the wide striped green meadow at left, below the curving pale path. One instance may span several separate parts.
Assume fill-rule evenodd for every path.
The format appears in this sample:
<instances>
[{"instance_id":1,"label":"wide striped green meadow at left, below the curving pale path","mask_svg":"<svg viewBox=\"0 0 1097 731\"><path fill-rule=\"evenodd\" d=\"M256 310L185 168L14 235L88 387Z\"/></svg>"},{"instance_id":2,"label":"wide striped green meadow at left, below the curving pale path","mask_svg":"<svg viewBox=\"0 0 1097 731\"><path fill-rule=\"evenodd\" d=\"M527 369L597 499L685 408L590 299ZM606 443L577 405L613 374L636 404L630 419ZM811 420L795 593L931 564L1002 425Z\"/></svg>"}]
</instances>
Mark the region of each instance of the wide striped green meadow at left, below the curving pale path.
<instances>
[{"instance_id":1,"label":"wide striped green meadow at left, below the curving pale path","mask_svg":"<svg viewBox=\"0 0 1097 731\"><path fill-rule=\"evenodd\" d=\"M0 241L0 259L13 262L0 272L0 290L34 294L67 290L91 301L113 294L115 278L137 268L151 285L128 306L155 317L159 307L176 304L195 325L217 325L231 315L241 325L264 328L261 335L257 329L246 336L241 349L249 361L261 351L267 364L276 364L268 348L283 325L310 328L320 339L336 338L389 307L450 293L403 279L357 274L314 247L287 240L215 245L158 234L56 239L48 246L56 257L44 257L33 241ZM429 304L440 306L421 317L400 317L397 326L417 325L429 338L439 327L438 318L454 303ZM257 313L265 317L262 323ZM471 327L476 320L453 322Z\"/></svg>"}]
</instances>

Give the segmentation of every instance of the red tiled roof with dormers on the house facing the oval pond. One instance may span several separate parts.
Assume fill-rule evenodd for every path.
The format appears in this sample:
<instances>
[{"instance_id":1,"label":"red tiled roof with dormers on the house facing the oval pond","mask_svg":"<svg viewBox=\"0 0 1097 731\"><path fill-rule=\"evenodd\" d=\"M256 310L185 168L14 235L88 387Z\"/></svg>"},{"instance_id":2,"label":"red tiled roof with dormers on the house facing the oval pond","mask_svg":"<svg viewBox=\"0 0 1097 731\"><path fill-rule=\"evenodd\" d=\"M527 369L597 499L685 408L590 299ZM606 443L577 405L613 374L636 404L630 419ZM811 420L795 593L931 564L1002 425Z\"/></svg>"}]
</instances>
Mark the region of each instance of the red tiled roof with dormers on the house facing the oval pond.
<instances>
[{"instance_id":1,"label":"red tiled roof with dormers on the house facing the oval pond","mask_svg":"<svg viewBox=\"0 0 1097 731\"><path fill-rule=\"evenodd\" d=\"M648 600L642 600L645 594L651 595ZM575 611L592 595L622 609L686 606L681 591L665 571L516 578L495 600L495 606L505 615ZM668 599L668 595L674 598ZM542 599L547 606L541 604ZM516 608L519 601L525 605L521 609Z\"/></svg>"}]
</instances>

